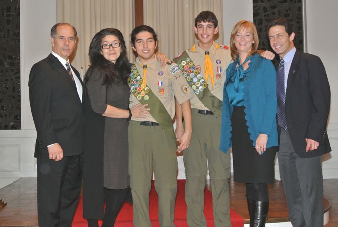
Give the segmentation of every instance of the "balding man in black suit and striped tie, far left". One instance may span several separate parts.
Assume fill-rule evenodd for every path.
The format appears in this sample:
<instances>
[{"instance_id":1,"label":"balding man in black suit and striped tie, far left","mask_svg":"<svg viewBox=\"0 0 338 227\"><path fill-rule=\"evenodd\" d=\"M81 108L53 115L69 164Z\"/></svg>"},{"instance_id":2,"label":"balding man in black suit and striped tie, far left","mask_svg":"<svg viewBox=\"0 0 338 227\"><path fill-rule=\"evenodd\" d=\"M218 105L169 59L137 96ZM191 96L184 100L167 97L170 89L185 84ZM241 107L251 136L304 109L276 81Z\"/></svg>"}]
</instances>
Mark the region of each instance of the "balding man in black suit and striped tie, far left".
<instances>
[{"instance_id":1,"label":"balding man in black suit and striped tie, far left","mask_svg":"<svg viewBox=\"0 0 338 227\"><path fill-rule=\"evenodd\" d=\"M37 131L37 202L40 227L71 226L81 189L84 140L83 85L70 67L77 32L67 23L50 33L51 54L29 74L29 100Z\"/></svg>"}]
</instances>

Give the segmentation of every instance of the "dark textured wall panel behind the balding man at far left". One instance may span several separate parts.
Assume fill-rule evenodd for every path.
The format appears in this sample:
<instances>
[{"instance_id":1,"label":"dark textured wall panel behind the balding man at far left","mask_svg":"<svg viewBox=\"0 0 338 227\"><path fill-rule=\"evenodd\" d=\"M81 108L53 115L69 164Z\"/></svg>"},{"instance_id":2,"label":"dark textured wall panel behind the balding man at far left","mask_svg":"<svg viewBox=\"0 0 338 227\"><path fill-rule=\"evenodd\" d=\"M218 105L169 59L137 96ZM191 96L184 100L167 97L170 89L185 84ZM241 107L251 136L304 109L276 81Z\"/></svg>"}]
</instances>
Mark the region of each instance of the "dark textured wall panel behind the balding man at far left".
<instances>
[{"instance_id":1,"label":"dark textured wall panel behind the balding man at far left","mask_svg":"<svg viewBox=\"0 0 338 227\"><path fill-rule=\"evenodd\" d=\"M20 0L0 0L0 129L21 129Z\"/></svg>"}]
</instances>

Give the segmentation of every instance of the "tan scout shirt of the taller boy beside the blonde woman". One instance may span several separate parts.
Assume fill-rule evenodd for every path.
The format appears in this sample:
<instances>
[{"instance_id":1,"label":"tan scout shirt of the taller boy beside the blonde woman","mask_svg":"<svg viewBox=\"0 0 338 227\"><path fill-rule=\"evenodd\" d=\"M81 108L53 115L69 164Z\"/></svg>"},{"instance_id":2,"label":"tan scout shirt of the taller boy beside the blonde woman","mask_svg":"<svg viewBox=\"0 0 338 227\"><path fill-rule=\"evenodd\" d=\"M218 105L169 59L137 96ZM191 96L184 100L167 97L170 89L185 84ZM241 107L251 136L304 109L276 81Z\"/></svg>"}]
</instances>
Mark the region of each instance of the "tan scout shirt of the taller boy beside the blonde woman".
<instances>
[{"instance_id":1,"label":"tan scout shirt of the taller boy beside the blonde woman","mask_svg":"<svg viewBox=\"0 0 338 227\"><path fill-rule=\"evenodd\" d=\"M196 68L200 71L202 77L205 79L204 75L204 60L205 60L205 51L203 51L198 43L195 44L196 51L192 51L191 49L187 50L187 53L191 60L193 61ZM213 74L214 74L214 87L212 87L211 78L209 76L208 88L210 92L216 96L221 101L223 100L223 87L224 82L226 81L226 70L228 65L232 61L230 56L230 50L224 48L223 46L219 46L216 48L216 43L214 42L210 47L209 55L213 66ZM191 108L196 108L200 110L209 110L204 104L197 98L196 95L190 100Z\"/></svg>"}]
</instances>

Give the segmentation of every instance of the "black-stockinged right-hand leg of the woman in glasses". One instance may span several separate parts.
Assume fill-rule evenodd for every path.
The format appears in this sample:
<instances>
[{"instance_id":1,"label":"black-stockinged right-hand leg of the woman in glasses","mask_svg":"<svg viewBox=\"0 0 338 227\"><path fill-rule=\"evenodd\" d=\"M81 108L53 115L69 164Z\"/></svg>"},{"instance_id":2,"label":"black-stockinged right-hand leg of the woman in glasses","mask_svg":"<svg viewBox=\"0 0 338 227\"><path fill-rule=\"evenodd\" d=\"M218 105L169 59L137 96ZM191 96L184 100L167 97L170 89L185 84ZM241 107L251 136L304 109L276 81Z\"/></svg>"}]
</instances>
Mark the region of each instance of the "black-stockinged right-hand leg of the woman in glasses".
<instances>
[{"instance_id":1,"label":"black-stockinged right-hand leg of the woman in glasses","mask_svg":"<svg viewBox=\"0 0 338 227\"><path fill-rule=\"evenodd\" d=\"M104 188L105 212L102 227L114 226L116 217L126 200L130 188L111 190Z\"/></svg>"}]
</instances>

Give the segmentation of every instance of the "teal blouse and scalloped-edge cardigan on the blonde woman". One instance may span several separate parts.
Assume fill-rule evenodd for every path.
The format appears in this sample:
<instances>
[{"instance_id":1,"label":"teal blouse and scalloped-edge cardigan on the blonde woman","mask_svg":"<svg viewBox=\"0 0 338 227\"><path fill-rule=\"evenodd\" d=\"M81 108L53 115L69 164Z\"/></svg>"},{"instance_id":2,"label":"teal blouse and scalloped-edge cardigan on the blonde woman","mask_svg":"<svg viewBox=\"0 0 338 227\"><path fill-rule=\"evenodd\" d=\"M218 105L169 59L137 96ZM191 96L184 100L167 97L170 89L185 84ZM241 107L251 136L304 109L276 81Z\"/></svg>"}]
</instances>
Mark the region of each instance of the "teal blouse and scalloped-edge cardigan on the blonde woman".
<instances>
[{"instance_id":1,"label":"teal blouse and scalloped-edge cardigan on the blonde woman","mask_svg":"<svg viewBox=\"0 0 338 227\"><path fill-rule=\"evenodd\" d=\"M246 59L249 67L236 67L231 63L226 71L223 90L223 109L220 150L231 148L231 115L233 106L244 106L245 120L252 145L260 133L268 135L266 147L278 146L276 123L277 95L276 70L270 60L256 54Z\"/></svg>"}]
</instances>

